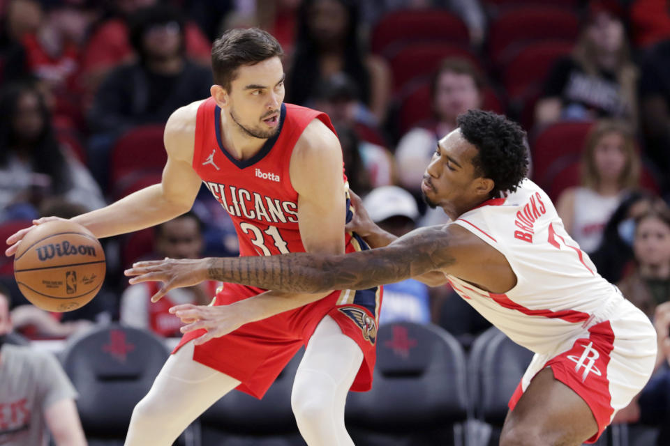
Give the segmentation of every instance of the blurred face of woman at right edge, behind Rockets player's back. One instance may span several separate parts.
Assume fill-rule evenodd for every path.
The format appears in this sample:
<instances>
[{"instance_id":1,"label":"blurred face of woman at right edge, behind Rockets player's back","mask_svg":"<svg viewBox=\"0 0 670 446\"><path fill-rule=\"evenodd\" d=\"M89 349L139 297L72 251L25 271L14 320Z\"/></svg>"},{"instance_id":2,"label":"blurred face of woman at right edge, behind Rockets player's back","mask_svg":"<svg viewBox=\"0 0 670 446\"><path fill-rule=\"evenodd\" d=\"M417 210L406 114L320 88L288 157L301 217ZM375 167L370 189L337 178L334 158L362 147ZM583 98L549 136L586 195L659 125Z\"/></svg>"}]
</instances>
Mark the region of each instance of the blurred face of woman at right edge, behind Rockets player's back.
<instances>
[{"instance_id":1,"label":"blurred face of woman at right edge, behind Rockets player's back","mask_svg":"<svg viewBox=\"0 0 670 446\"><path fill-rule=\"evenodd\" d=\"M667 265L670 262L670 227L660 218L644 218L635 231L633 249L635 259L641 265Z\"/></svg>"}]
</instances>

